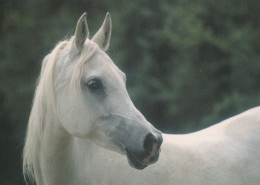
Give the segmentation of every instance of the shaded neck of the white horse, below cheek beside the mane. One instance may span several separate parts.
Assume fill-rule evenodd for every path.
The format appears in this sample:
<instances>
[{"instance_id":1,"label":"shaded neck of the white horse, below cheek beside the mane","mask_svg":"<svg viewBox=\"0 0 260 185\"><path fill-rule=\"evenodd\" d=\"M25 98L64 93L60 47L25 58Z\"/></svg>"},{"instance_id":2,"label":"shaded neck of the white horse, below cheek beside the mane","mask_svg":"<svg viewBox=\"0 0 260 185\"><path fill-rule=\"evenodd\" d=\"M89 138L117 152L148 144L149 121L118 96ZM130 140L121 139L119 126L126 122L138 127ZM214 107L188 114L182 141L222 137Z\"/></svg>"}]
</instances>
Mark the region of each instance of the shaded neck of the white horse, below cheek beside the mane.
<instances>
[{"instance_id":1,"label":"shaded neck of the white horse, below cheek beside the mane","mask_svg":"<svg viewBox=\"0 0 260 185\"><path fill-rule=\"evenodd\" d=\"M37 184L66 184L72 175L72 138L57 123L45 123L37 146ZM66 183L65 183L66 182Z\"/></svg>"}]
</instances>

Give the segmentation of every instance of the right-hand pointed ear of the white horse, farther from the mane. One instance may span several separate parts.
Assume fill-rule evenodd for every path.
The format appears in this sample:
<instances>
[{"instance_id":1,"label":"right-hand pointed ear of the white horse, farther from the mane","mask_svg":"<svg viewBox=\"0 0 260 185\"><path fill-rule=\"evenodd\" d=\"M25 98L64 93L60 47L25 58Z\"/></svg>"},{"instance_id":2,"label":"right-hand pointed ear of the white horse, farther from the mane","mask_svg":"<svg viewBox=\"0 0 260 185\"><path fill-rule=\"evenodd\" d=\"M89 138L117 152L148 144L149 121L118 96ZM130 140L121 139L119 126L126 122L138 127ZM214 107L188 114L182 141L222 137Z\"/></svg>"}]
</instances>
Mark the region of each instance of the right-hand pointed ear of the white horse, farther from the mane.
<instances>
[{"instance_id":1,"label":"right-hand pointed ear of the white horse, farther from the mane","mask_svg":"<svg viewBox=\"0 0 260 185\"><path fill-rule=\"evenodd\" d=\"M109 47L111 30L112 30L112 20L110 14L107 13L103 25L92 38L92 41L97 43L98 46L104 51L106 51Z\"/></svg>"}]
</instances>

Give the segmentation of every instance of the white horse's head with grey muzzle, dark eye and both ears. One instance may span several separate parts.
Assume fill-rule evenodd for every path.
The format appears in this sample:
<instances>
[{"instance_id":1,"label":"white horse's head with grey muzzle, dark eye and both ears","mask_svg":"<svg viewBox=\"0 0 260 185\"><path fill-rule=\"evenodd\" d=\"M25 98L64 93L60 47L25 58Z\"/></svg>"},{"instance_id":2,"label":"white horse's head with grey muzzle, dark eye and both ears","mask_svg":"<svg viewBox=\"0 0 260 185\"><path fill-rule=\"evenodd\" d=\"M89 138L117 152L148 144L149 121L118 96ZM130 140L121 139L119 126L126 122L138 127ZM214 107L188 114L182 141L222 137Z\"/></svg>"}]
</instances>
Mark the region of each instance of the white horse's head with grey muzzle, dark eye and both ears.
<instances>
[{"instance_id":1,"label":"white horse's head with grey muzzle, dark eye and both ears","mask_svg":"<svg viewBox=\"0 0 260 185\"><path fill-rule=\"evenodd\" d=\"M86 13L78 20L55 68L57 110L61 125L74 137L127 156L143 169L158 160L161 132L136 109L126 90L126 76L105 53L112 22L89 39Z\"/></svg>"}]
</instances>

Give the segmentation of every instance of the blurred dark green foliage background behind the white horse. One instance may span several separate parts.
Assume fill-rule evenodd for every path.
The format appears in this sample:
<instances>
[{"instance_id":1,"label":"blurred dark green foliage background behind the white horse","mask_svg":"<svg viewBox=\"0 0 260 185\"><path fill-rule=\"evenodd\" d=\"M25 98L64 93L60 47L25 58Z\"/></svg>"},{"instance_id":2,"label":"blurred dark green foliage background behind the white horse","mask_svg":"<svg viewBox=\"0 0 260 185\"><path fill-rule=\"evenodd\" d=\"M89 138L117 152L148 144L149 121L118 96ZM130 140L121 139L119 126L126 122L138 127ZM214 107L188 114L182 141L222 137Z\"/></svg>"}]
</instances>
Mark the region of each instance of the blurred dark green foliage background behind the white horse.
<instances>
[{"instance_id":1,"label":"blurred dark green foliage background behind the white horse","mask_svg":"<svg viewBox=\"0 0 260 185\"><path fill-rule=\"evenodd\" d=\"M108 54L162 131L197 131L259 105L259 0L0 0L1 185L23 184L41 61L85 11L92 36L111 13Z\"/></svg>"}]
</instances>

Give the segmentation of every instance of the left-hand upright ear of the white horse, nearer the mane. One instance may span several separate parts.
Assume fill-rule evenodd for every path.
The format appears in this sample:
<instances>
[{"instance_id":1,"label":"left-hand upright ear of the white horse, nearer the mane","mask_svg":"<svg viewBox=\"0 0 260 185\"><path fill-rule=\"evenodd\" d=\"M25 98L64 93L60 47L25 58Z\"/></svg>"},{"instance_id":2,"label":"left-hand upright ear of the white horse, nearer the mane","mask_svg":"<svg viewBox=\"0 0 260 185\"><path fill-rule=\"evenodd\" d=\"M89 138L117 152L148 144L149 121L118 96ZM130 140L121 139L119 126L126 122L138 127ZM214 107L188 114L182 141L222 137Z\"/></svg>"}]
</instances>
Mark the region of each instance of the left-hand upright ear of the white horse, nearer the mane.
<instances>
[{"instance_id":1,"label":"left-hand upright ear of the white horse, nearer the mane","mask_svg":"<svg viewBox=\"0 0 260 185\"><path fill-rule=\"evenodd\" d=\"M87 24L87 13L85 12L78 20L76 31L75 31L75 45L77 50L80 52L83 48L83 45L88 38L88 24Z\"/></svg>"}]
</instances>

